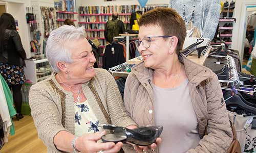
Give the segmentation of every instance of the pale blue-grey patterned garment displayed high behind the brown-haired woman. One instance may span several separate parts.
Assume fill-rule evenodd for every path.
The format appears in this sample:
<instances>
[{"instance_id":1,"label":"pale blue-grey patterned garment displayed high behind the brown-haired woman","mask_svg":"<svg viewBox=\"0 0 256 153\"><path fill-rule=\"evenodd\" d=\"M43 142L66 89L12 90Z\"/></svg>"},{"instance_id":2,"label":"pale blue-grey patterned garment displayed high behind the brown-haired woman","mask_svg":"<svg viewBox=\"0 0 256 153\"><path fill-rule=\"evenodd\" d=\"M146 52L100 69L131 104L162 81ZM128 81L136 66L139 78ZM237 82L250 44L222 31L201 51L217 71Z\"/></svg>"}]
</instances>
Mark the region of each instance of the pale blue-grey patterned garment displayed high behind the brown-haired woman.
<instances>
[{"instance_id":1,"label":"pale blue-grey patterned garment displayed high behind the brown-haired woman","mask_svg":"<svg viewBox=\"0 0 256 153\"><path fill-rule=\"evenodd\" d=\"M220 0L170 0L185 22L193 21L204 38L214 38L220 18Z\"/></svg>"}]
</instances>

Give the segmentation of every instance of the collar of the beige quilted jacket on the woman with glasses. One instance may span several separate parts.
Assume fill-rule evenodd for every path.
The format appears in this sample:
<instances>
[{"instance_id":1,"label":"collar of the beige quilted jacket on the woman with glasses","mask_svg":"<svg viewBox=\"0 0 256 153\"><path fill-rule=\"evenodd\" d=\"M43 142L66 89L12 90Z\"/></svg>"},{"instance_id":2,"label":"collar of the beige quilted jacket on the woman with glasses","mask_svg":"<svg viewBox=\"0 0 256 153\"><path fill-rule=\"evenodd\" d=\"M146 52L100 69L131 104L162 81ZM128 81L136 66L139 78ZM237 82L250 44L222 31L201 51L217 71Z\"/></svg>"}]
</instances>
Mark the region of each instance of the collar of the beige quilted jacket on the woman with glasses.
<instances>
[{"instance_id":1,"label":"collar of the beige quilted jacket on the woman with glasses","mask_svg":"<svg viewBox=\"0 0 256 153\"><path fill-rule=\"evenodd\" d=\"M198 86L202 81L211 77L212 72L207 67L189 60L182 53L179 54L178 58L179 61L184 64L188 81L195 86ZM153 71L154 70L151 68L144 67L144 62L132 68L132 72L140 82L151 79L153 77Z\"/></svg>"}]
</instances>

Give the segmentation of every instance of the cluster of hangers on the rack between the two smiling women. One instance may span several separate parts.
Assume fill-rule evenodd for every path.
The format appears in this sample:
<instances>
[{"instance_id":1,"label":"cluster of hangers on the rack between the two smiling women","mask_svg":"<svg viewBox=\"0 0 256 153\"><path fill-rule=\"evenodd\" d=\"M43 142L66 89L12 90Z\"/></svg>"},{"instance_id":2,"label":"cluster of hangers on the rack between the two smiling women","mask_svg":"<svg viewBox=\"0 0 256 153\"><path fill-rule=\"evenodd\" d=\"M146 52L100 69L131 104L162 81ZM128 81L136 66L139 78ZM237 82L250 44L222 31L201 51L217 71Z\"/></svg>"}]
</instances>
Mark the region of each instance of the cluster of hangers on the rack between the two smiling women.
<instances>
[{"instance_id":1,"label":"cluster of hangers on the rack between the two smiling women","mask_svg":"<svg viewBox=\"0 0 256 153\"><path fill-rule=\"evenodd\" d=\"M127 77L135 64L122 63L109 69L113 77Z\"/></svg>"}]
</instances>

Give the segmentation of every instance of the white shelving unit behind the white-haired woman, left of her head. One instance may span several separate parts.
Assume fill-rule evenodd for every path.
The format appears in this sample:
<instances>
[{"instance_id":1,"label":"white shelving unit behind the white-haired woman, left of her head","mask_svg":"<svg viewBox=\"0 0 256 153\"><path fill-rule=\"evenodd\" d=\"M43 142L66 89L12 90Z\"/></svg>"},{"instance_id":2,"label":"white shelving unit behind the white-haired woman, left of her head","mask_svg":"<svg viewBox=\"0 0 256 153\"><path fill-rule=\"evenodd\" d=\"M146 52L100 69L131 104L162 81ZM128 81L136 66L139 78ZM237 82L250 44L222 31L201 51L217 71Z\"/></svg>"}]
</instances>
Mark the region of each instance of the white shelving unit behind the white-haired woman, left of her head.
<instances>
[{"instance_id":1,"label":"white shelving unit behind the white-haired woman, left of her head","mask_svg":"<svg viewBox=\"0 0 256 153\"><path fill-rule=\"evenodd\" d=\"M51 69L49 68L49 62L47 59L41 60L25 60L26 67L24 67L24 72L26 80L30 80L33 84L45 80L50 77ZM48 69L48 70L47 70ZM50 71L51 70L51 71Z\"/></svg>"}]
</instances>

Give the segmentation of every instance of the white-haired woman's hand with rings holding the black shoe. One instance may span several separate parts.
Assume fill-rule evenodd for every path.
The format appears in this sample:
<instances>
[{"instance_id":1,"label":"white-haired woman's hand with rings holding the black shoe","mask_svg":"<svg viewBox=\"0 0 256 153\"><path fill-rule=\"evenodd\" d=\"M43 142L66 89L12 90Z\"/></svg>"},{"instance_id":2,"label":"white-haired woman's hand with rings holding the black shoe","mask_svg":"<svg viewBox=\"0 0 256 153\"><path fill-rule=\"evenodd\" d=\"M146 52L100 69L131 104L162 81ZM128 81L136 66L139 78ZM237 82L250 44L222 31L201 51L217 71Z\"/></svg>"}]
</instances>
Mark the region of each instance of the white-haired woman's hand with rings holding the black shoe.
<instances>
[{"instance_id":1,"label":"white-haired woman's hand with rings holding the black shoe","mask_svg":"<svg viewBox=\"0 0 256 153\"><path fill-rule=\"evenodd\" d=\"M105 131L96 132L94 134L84 134L77 138L75 146L77 150L82 153L96 153L101 150L104 153L118 152L123 146L122 142L118 142L117 144L114 142L97 143L97 141L105 134Z\"/></svg>"}]
</instances>

